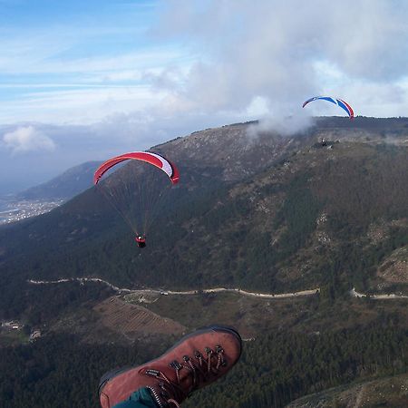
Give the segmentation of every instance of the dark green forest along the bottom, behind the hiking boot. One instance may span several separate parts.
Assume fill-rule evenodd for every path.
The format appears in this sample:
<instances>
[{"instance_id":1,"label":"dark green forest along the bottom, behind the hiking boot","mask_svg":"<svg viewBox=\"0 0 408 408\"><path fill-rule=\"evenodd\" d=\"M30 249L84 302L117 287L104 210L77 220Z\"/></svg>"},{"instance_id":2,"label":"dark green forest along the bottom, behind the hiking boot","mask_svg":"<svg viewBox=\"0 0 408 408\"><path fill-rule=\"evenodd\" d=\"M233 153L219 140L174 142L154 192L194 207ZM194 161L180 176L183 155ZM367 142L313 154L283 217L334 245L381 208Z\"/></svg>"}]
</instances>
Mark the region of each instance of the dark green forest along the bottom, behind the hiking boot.
<instances>
[{"instance_id":1,"label":"dark green forest along the bottom, behind the hiking boot","mask_svg":"<svg viewBox=\"0 0 408 408\"><path fill-rule=\"evenodd\" d=\"M401 374L407 367L406 329L391 321L364 330L315 335L265 334L245 345L226 380L195 393L185 406L282 407L306 393L355 379ZM142 363L170 345L78 345L52 336L13 353L0 349L4 407L99 406L99 377L112 367Z\"/></svg>"}]
</instances>

